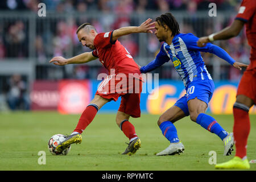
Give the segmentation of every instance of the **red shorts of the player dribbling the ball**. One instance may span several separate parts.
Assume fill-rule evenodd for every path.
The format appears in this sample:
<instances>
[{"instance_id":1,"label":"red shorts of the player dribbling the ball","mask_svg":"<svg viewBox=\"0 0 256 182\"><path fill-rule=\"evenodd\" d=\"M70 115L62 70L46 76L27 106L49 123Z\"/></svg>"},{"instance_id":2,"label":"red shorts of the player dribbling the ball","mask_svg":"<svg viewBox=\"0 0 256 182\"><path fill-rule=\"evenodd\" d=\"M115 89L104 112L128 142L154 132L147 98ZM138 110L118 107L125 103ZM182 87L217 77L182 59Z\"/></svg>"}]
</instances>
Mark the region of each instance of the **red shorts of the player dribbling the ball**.
<instances>
[{"instance_id":1,"label":"red shorts of the player dribbling the ball","mask_svg":"<svg viewBox=\"0 0 256 182\"><path fill-rule=\"evenodd\" d=\"M117 101L121 96L118 111L129 114L133 118L141 117L142 81L135 77L117 77L109 75L98 87L97 95Z\"/></svg>"}]
</instances>

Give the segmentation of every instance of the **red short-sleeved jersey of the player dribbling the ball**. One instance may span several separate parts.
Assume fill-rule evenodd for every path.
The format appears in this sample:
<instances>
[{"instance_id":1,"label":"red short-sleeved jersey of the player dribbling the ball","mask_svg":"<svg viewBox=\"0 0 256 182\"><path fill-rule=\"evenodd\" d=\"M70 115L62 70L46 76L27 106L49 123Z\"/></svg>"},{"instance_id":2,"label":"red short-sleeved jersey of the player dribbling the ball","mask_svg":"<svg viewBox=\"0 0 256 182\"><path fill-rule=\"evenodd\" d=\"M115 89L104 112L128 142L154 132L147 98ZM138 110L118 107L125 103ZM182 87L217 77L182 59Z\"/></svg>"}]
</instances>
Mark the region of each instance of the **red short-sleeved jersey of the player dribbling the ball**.
<instances>
[{"instance_id":1,"label":"red short-sleeved jersey of the player dribbling the ball","mask_svg":"<svg viewBox=\"0 0 256 182\"><path fill-rule=\"evenodd\" d=\"M100 59L100 62L108 69L110 75L113 74L110 73L110 69L114 69L115 75L118 73L125 73L126 75L138 73L140 75L141 71L133 57L118 40L112 41L112 34L113 31L96 35L94 39L96 49L93 51L93 56Z\"/></svg>"}]
</instances>

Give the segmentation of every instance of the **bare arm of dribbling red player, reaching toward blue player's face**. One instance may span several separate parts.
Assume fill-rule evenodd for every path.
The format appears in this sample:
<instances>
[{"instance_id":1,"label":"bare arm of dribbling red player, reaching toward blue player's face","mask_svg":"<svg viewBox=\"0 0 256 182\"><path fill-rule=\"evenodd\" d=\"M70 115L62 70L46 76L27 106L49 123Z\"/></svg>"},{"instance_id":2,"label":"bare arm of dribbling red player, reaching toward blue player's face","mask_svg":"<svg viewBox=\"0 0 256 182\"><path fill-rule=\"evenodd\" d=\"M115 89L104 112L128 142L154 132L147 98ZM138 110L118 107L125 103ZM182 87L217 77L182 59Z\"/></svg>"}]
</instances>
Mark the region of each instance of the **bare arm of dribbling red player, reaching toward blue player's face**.
<instances>
[{"instance_id":1,"label":"bare arm of dribbling red player, reaching toward blue player's face","mask_svg":"<svg viewBox=\"0 0 256 182\"><path fill-rule=\"evenodd\" d=\"M117 30L113 31L112 35L112 41L115 42L119 37L123 35L129 35L129 34L134 34L134 33L150 33L152 34L152 30L155 28L151 27L152 25L155 24L155 22L152 22L152 19L148 18L146 21L144 21L141 26L139 27L122 27Z\"/></svg>"}]
</instances>

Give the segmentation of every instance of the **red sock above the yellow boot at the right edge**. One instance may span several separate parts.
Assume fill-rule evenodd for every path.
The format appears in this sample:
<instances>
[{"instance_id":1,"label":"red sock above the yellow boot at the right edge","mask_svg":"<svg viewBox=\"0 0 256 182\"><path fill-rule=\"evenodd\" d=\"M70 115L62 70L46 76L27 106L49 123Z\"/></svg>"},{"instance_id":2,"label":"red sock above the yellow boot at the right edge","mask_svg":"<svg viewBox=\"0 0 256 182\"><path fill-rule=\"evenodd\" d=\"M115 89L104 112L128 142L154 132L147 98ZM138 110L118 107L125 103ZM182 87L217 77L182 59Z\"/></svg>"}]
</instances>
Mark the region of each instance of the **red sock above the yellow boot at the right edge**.
<instances>
[{"instance_id":1,"label":"red sock above the yellow boot at the right edge","mask_svg":"<svg viewBox=\"0 0 256 182\"><path fill-rule=\"evenodd\" d=\"M233 108L233 114L236 156L242 159L246 156L247 139L250 133L250 118L247 111L238 108Z\"/></svg>"}]
</instances>

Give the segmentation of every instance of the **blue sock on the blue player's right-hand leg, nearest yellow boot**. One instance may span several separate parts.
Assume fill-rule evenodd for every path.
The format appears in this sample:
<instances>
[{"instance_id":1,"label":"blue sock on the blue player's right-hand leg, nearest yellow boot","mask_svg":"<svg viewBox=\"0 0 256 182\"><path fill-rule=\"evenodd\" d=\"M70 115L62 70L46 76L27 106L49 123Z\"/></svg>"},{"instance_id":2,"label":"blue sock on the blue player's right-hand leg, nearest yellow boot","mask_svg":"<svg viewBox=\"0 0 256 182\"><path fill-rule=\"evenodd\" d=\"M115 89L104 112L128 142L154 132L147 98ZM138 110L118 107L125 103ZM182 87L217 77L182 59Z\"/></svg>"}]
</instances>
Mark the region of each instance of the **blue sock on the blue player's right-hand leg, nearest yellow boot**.
<instances>
[{"instance_id":1,"label":"blue sock on the blue player's right-hand leg, nearest yellow boot","mask_svg":"<svg viewBox=\"0 0 256 182\"><path fill-rule=\"evenodd\" d=\"M228 136L228 133L224 129L222 129L220 124L216 122L216 119L214 119L210 115L204 113L199 114L196 118L196 123L201 125L204 129L207 129L211 133L218 135L221 140Z\"/></svg>"}]
</instances>

